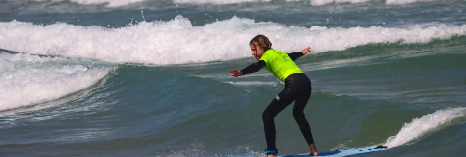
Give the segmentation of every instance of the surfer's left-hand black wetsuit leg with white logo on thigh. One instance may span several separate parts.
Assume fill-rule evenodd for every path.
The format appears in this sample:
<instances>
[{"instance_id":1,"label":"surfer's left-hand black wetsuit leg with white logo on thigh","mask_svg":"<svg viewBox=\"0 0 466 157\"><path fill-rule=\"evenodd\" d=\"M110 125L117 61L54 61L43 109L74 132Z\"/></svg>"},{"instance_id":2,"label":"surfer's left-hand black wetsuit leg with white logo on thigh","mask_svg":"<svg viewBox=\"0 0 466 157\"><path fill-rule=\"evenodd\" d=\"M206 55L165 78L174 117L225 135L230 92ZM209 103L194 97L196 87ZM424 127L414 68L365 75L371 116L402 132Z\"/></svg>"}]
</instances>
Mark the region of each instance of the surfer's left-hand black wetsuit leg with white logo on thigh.
<instances>
[{"instance_id":1,"label":"surfer's left-hand black wetsuit leg with white logo on thigh","mask_svg":"<svg viewBox=\"0 0 466 157\"><path fill-rule=\"evenodd\" d=\"M262 120L264 123L265 141L267 143L266 154L268 151L277 152L275 147L275 116L293 102L292 91L289 90L289 82L285 82L285 89L275 96L270 105L264 110Z\"/></svg>"}]
</instances>

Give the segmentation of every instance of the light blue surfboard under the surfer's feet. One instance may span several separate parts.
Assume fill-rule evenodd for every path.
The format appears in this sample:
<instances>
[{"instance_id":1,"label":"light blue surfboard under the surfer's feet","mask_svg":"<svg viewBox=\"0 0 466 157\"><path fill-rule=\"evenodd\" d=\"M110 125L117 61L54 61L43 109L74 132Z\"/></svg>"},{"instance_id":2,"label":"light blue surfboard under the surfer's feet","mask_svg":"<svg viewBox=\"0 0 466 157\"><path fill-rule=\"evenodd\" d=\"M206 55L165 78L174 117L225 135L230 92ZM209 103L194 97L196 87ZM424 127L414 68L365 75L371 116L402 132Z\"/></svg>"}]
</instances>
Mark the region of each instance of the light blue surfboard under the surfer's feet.
<instances>
[{"instance_id":1,"label":"light blue surfboard under the surfer's feet","mask_svg":"<svg viewBox=\"0 0 466 157\"><path fill-rule=\"evenodd\" d=\"M344 157L349 155L355 155L360 153L369 153L375 151L386 150L386 146L377 146L377 147L365 147L365 148L354 148L354 149L344 149L344 150L334 150L334 151L323 151L319 152L319 156L309 156L307 153L303 154L294 154L294 155L284 155L278 157Z\"/></svg>"}]
</instances>

